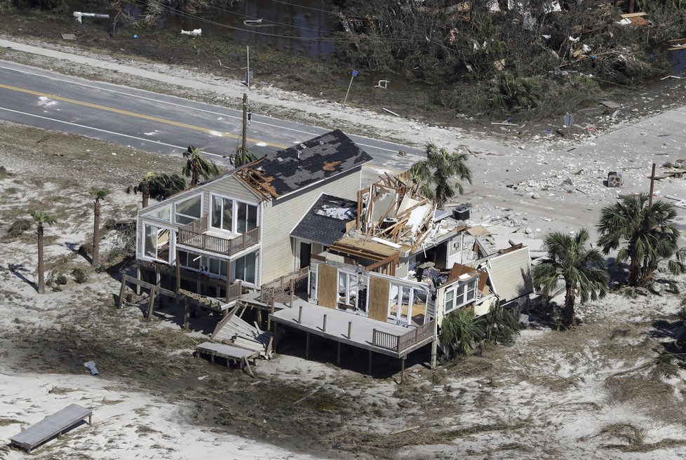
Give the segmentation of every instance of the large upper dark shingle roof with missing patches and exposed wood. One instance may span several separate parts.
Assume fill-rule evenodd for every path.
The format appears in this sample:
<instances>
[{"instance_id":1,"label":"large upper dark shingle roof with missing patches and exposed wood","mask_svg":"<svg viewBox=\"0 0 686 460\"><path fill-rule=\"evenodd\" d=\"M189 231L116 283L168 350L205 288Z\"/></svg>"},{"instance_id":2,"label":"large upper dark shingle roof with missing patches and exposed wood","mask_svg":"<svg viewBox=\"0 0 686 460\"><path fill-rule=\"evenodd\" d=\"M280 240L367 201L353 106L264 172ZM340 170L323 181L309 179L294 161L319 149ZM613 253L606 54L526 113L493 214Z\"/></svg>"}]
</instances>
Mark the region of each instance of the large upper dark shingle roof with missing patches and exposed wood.
<instances>
[{"instance_id":1,"label":"large upper dark shingle roof with missing patches and exposed wood","mask_svg":"<svg viewBox=\"0 0 686 460\"><path fill-rule=\"evenodd\" d=\"M254 170L256 180L248 180L248 184L253 187L259 182L262 184L259 187L271 196L281 197L371 160L372 157L350 137L341 130L334 130L268 154L241 173L245 175Z\"/></svg>"}]
</instances>

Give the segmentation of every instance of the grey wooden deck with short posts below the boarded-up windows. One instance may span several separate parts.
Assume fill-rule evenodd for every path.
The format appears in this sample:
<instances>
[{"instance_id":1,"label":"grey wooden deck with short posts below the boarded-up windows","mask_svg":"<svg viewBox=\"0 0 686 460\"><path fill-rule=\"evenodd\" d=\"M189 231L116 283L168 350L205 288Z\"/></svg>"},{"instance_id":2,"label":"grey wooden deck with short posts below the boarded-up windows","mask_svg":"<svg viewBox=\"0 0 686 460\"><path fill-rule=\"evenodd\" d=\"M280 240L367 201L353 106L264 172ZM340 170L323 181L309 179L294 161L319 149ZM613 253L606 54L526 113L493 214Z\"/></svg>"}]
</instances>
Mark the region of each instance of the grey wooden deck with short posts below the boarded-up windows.
<instances>
[{"instance_id":1,"label":"grey wooden deck with short posts below the boarded-up windows","mask_svg":"<svg viewBox=\"0 0 686 460\"><path fill-rule=\"evenodd\" d=\"M279 325L394 358L404 358L412 351L430 344L436 334L433 320L420 327L405 327L327 309L300 298L295 299L292 309L286 306L273 313L271 319Z\"/></svg>"}]
</instances>

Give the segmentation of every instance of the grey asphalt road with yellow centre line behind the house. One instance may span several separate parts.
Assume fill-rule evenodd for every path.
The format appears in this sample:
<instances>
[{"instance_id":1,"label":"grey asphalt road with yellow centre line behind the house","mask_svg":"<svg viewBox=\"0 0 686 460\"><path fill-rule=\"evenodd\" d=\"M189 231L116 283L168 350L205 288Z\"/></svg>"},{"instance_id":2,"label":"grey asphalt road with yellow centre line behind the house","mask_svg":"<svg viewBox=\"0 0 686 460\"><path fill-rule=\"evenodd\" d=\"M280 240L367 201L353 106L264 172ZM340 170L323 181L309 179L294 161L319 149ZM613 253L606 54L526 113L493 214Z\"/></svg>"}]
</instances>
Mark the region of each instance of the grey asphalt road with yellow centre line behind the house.
<instances>
[{"instance_id":1,"label":"grey asphalt road with yellow centre line behind the house","mask_svg":"<svg viewBox=\"0 0 686 460\"><path fill-rule=\"evenodd\" d=\"M170 95L88 81L0 60L0 119L106 140L161 154L189 145L228 163L241 142L241 111ZM336 128L331 127L331 129ZM248 149L261 156L328 130L253 114ZM421 154L391 142L350 136L384 168L406 169Z\"/></svg>"}]
</instances>

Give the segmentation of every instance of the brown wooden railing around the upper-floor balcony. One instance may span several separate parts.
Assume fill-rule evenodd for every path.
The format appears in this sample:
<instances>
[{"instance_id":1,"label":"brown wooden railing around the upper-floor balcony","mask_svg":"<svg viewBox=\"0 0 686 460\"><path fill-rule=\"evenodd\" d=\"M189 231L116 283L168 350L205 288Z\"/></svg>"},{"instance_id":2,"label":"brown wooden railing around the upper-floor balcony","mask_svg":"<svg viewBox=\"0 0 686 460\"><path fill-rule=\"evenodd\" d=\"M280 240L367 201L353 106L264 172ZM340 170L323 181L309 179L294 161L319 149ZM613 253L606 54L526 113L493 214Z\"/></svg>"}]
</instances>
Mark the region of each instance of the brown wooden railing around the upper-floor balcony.
<instances>
[{"instance_id":1,"label":"brown wooden railing around the upper-floor balcony","mask_svg":"<svg viewBox=\"0 0 686 460\"><path fill-rule=\"evenodd\" d=\"M209 229L209 216L203 216L190 224L179 229L180 245L191 246L209 252L217 252L223 255L234 255L250 246L260 243L260 227L248 231L248 233L236 236L236 238L221 238L220 236L207 235Z\"/></svg>"}]
</instances>

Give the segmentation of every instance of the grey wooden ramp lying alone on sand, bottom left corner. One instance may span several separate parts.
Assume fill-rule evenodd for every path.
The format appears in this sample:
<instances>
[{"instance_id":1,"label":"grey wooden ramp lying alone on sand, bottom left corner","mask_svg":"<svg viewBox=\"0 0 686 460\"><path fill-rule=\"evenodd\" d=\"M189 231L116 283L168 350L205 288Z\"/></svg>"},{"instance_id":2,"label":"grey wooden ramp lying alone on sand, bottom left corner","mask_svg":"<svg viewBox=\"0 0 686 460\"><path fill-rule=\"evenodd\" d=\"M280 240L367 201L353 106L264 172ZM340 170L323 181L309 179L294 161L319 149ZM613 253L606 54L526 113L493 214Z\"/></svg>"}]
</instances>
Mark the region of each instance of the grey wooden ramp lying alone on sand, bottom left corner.
<instances>
[{"instance_id":1,"label":"grey wooden ramp lying alone on sand, bottom left corner","mask_svg":"<svg viewBox=\"0 0 686 460\"><path fill-rule=\"evenodd\" d=\"M68 405L10 438L11 445L29 452L55 436L59 438L63 432L86 417L90 425L93 411L76 404Z\"/></svg>"}]
</instances>

